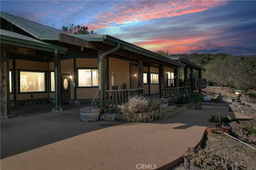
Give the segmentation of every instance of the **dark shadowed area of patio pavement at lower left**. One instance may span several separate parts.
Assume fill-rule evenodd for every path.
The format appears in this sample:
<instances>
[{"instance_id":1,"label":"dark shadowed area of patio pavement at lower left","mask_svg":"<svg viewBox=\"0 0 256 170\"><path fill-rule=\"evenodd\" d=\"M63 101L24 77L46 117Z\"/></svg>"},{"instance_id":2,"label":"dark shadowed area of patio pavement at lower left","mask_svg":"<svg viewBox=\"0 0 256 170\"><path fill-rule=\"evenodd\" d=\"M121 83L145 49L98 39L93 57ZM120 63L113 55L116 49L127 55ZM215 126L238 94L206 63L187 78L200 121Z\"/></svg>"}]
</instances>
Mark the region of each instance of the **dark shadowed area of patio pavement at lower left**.
<instances>
[{"instance_id":1,"label":"dark shadowed area of patio pavement at lower left","mask_svg":"<svg viewBox=\"0 0 256 170\"><path fill-rule=\"evenodd\" d=\"M1 120L1 159L66 138L123 123L82 122L80 108L66 105L64 111L51 112L52 104L12 107L13 119Z\"/></svg>"}]
</instances>

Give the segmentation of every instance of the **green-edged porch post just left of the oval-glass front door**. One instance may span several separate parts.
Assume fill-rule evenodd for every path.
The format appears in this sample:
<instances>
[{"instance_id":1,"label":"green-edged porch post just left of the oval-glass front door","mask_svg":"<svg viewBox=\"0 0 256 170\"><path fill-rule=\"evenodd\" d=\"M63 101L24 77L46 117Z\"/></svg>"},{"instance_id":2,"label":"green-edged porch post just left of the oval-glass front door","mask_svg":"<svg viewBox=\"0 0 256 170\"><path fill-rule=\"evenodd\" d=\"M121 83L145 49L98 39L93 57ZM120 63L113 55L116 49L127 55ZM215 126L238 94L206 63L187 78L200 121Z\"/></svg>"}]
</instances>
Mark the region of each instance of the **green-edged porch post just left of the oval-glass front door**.
<instances>
[{"instance_id":1,"label":"green-edged porch post just left of the oval-glass front door","mask_svg":"<svg viewBox=\"0 0 256 170\"><path fill-rule=\"evenodd\" d=\"M55 111L60 109L60 54L54 49L54 85L55 85Z\"/></svg>"}]
</instances>

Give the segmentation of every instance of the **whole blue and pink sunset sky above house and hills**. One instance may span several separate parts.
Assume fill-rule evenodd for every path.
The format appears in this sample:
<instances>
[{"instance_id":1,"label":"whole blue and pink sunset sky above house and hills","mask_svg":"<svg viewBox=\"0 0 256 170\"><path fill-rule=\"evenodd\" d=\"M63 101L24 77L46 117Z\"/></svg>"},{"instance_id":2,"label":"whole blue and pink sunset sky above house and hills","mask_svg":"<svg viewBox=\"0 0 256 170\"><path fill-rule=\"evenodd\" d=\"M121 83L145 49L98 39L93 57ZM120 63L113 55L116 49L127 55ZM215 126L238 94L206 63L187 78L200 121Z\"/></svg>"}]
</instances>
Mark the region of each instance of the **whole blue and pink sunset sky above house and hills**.
<instances>
[{"instance_id":1,"label":"whole blue and pink sunset sky above house and hills","mask_svg":"<svg viewBox=\"0 0 256 170\"><path fill-rule=\"evenodd\" d=\"M256 56L256 1L0 1L1 12L62 30L88 26L151 51Z\"/></svg>"}]
</instances>

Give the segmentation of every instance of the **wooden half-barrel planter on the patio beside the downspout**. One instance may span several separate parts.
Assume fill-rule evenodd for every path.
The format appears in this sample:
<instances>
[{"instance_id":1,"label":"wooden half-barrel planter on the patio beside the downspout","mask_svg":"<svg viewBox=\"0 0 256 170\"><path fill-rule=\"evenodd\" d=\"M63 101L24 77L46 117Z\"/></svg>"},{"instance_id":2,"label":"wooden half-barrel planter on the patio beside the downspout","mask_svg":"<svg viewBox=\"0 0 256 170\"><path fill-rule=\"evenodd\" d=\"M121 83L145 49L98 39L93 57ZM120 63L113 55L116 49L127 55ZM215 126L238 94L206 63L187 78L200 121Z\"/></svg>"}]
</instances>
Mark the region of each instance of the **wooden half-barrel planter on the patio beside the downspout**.
<instances>
[{"instance_id":1,"label":"wooden half-barrel planter on the patio beside the downspout","mask_svg":"<svg viewBox=\"0 0 256 170\"><path fill-rule=\"evenodd\" d=\"M80 108L80 117L82 122L96 122L99 120L99 107L82 107Z\"/></svg>"}]
</instances>

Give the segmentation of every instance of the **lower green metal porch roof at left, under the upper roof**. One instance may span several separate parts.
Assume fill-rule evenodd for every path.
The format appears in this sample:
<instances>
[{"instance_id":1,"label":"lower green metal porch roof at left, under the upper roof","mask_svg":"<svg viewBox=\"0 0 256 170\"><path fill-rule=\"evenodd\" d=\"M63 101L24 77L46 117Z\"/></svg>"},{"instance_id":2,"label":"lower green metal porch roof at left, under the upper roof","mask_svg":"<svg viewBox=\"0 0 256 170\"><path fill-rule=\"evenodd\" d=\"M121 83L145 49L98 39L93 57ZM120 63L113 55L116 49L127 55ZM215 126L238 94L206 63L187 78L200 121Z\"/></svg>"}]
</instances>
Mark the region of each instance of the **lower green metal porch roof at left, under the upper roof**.
<instances>
[{"instance_id":1,"label":"lower green metal porch roof at left, under the upper roof","mask_svg":"<svg viewBox=\"0 0 256 170\"><path fill-rule=\"evenodd\" d=\"M66 51L67 51L67 48L41 42L34 38L30 38L15 32L2 30L2 29L0 29L0 40L1 40L1 43L4 43L4 44L17 45L20 47L27 47L27 48L38 49L43 51L54 52L54 49L58 49L58 53L63 53L63 54L66 54Z\"/></svg>"}]
</instances>

